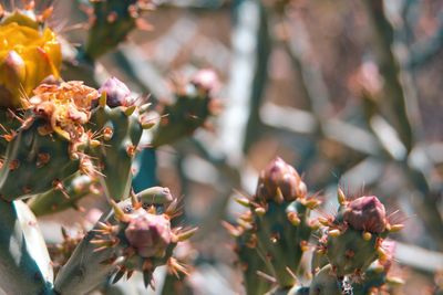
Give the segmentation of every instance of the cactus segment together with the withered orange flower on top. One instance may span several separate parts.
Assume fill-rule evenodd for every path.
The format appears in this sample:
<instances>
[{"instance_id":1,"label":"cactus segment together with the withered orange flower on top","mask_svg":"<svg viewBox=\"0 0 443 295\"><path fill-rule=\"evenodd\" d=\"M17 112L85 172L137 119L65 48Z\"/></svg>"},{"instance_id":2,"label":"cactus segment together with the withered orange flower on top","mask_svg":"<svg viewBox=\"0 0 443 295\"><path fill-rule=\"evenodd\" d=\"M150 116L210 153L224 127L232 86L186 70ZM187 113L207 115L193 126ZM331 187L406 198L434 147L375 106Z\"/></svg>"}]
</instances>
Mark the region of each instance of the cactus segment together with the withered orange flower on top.
<instances>
[{"instance_id":1,"label":"cactus segment together with the withered orange flower on top","mask_svg":"<svg viewBox=\"0 0 443 295\"><path fill-rule=\"evenodd\" d=\"M95 89L79 82L34 89L24 118L17 118L21 127L12 131L0 169L3 199L12 201L60 188L76 171L94 172L83 152L94 140L83 125L97 96Z\"/></svg>"}]
</instances>

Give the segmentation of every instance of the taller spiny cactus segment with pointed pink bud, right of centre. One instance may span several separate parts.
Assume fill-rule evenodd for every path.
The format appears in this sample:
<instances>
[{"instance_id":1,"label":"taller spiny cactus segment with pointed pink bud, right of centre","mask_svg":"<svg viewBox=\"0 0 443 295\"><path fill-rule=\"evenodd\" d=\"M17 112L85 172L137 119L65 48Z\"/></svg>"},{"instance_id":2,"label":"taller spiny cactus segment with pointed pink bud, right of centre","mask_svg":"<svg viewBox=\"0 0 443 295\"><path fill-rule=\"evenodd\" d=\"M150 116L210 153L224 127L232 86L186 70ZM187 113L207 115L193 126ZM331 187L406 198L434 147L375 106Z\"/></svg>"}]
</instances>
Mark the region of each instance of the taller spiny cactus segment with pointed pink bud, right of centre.
<instances>
[{"instance_id":1,"label":"taller spiny cactus segment with pointed pink bud, right of centre","mask_svg":"<svg viewBox=\"0 0 443 295\"><path fill-rule=\"evenodd\" d=\"M309 220L309 214L320 201L308 196L307 187L293 167L276 158L261 171L256 194L251 199L238 199L238 202L250 210L240 218L239 228L230 230L234 234L238 232L238 236L245 229L248 232L248 243L239 243L245 236L237 239L240 261L256 265L253 261L259 256L280 287L275 292L288 292L296 284L296 274L312 230L318 228L315 221ZM255 249L256 256L245 247ZM249 255L244 256L245 253ZM249 271L245 272L247 284L250 283L249 276Z\"/></svg>"}]
</instances>

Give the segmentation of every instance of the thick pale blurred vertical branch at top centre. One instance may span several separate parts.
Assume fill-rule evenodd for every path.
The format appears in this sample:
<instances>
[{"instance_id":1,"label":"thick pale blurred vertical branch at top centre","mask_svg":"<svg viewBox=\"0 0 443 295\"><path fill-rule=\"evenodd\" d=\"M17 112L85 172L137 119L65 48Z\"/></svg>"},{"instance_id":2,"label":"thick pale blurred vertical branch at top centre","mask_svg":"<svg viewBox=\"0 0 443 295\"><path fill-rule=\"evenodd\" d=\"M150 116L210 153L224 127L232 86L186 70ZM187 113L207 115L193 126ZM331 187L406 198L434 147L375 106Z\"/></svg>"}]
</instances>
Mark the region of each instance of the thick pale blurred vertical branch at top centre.
<instances>
[{"instance_id":1,"label":"thick pale blurred vertical branch at top centre","mask_svg":"<svg viewBox=\"0 0 443 295\"><path fill-rule=\"evenodd\" d=\"M233 61L225 112L220 116L219 145L233 166L241 164L244 150L259 131L258 106L267 76L267 23L255 0L234 4Z\"/></svg>"}]
</instances>

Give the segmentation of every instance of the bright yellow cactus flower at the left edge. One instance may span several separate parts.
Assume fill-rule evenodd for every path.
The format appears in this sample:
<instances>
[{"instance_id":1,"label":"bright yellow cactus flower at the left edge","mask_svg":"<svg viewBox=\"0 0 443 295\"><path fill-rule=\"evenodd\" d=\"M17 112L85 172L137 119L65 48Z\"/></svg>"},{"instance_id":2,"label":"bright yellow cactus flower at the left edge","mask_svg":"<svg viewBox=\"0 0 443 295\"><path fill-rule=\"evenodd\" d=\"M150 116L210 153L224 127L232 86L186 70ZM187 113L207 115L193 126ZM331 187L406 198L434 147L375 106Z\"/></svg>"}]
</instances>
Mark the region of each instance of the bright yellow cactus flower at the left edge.
<instances>
[{"instance_id":1,"label":"bright yellow cactus flower at the left edge","mask_svg":"<svg viewBox=\"0 0 443 295\"><path fill-rule=\"evenodd\" d=\"M49 28L17 11L0 23L0 106L25 107L23 99L48 76L59 77L61 46Z\"/></svg>"}]
</instances>

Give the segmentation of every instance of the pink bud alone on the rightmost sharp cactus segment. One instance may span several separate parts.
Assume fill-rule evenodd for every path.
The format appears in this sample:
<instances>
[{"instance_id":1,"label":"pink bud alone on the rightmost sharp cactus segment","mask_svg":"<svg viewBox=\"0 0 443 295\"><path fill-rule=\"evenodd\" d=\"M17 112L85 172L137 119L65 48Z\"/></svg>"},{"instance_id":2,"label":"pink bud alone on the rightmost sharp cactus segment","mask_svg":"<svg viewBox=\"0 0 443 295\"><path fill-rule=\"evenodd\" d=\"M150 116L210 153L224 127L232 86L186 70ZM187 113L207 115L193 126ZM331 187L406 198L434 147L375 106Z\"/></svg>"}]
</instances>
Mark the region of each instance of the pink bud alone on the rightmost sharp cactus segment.
<instances>
[{"instance_id":1,"label":"pink bud alone on the rightmost sharp cactus segment","mask_svg":"<svg viewBox=\"0 0 443 295\"><path fill-rule=\"evenodd\" d=\"M343 218L356 230L381 233L387 228L384 206L375 196L360 197L351 201Z\"/></svg>"}]
</instances>

